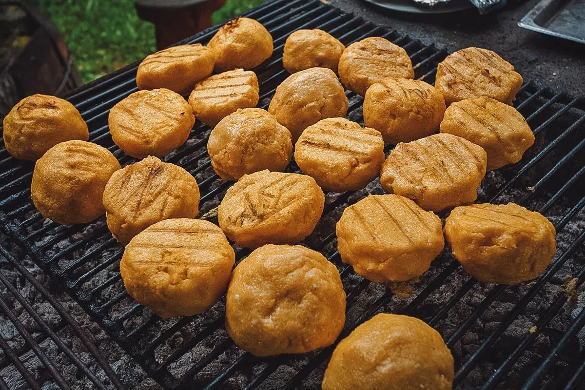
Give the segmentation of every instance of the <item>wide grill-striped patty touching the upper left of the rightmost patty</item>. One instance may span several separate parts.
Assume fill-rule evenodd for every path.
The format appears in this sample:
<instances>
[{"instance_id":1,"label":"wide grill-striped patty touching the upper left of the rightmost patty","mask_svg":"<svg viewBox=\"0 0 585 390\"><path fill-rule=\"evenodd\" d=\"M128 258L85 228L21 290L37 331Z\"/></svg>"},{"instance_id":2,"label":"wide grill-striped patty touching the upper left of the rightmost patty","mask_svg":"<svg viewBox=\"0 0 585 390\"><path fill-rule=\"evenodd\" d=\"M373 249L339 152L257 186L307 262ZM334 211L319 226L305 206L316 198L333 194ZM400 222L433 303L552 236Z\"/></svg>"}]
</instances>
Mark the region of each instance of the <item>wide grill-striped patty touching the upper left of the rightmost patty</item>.
<instances>
[{"instance_id":1,"label":"wide grill-striped patty touching the upper left of the rightmost patty","mask_svg":"<svg viewBox=\"0 0 585 390\"><path fill-rule=\"evenodd\" d=\"M486 164L480 146L452 134L435 134L399 143L382 164L380 184L390 194L439 212L477 199Z\"/></svg>"}]
</instances>

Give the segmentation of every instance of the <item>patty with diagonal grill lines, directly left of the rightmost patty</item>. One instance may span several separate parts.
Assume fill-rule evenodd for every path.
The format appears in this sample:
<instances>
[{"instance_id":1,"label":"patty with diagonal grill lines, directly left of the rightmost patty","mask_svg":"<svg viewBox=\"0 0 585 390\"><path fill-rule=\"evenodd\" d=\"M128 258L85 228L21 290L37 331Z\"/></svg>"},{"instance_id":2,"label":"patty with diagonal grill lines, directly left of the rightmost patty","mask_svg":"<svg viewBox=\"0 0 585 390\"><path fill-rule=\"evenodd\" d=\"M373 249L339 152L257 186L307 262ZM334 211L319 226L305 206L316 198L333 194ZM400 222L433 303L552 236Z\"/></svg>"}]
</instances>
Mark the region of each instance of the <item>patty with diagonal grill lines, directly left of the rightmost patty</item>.
<instances>
[{"instance_id":1,"label":"patty with diagonal grill lines, directly left of the rightmost patty","mask_svg":"<svg viewBox=\"0 0 585 390\"><path fill-rule=\"evenodd\" d=\"M441 219L399 195L370 195L336 225L343 263L373 282L419 277L445 246Z\"/></svg>"}]
</instances>

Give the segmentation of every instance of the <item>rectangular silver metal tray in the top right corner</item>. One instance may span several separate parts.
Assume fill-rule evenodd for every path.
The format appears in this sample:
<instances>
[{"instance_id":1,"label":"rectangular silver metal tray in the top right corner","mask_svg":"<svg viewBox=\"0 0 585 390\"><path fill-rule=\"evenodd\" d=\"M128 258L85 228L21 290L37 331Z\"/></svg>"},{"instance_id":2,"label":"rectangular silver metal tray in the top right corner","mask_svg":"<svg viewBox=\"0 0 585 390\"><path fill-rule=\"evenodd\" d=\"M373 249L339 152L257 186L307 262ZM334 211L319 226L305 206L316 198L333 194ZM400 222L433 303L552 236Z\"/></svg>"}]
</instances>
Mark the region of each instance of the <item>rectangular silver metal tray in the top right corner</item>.
<instances>
[{"instance_id":1,"label":"rectangular silver metal tray in the top right corner","mask_svg":"<svg viewBox=\"0 0 585 390\"><path fill-rule=\"evenodd\" d=\"M542 0L518 26L585 43L585 0Z\"/></svg>"}]
</instances>

